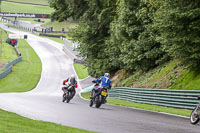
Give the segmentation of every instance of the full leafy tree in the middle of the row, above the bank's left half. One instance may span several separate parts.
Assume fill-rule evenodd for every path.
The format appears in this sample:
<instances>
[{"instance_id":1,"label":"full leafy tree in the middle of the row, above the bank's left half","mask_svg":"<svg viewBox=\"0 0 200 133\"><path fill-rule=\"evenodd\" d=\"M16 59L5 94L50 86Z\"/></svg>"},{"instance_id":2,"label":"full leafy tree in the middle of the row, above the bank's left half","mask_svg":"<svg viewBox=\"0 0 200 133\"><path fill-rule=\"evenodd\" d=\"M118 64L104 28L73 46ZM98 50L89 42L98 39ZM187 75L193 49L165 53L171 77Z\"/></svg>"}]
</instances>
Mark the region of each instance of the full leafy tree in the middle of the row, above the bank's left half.
<instances>
[{"instance_id":1,"label":"full leafy tree in the middle of the row, above the bank's left half","mask_svg":"<svg viewBox=\"0 0 200 133\"><path fill-rule=\"evenodd\" d=\"M123 68L147 71L168 60L162 44L156 41L157 31L152 28L155 10L149 1L120 0L117 9L113 36L119 42Z\"/></svg>"}]
</instances>

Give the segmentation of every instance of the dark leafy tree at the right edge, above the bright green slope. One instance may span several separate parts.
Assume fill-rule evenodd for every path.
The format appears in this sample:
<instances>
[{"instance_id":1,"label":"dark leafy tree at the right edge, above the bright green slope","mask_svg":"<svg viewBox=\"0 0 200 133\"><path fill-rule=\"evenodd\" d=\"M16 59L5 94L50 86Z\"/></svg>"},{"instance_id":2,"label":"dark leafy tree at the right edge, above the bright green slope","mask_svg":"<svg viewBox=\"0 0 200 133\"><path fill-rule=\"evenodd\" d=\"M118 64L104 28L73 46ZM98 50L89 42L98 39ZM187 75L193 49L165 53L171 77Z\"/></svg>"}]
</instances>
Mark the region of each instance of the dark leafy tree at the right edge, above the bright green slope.
<instances>
[{"instance_id":1,"label":"dark leafy tree at the right edge, above the bright green slope","mask_svg":"<svg viewBox=\"0 0 200 133\"><path fill-rule=\"evenodd\" d=\"M165 51L192 68L200 65L200 1L159 0L154 16Z\"/></svg>"}]
</instances>

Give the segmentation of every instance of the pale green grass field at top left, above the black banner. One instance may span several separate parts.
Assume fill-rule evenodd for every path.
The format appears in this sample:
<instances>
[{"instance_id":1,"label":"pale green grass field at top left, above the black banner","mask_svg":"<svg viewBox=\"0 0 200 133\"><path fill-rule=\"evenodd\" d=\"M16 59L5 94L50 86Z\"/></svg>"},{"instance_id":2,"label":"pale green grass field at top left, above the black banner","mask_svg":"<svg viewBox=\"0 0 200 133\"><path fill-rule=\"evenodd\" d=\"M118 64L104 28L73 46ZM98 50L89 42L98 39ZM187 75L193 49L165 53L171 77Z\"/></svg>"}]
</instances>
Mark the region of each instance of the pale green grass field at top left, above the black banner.
<instances>
[{"instance_id":1,"label":"pale green grass field at top left, above the black banner","mask_svg":"<svg viewBox=\"0 0 200 133\"><path fill-rule=\"evenodd\" d=\"M6 1L1 3L1 12L50 14L53 11L54 9L48 6L18 4Z\"/></svg>"}]
</instances>

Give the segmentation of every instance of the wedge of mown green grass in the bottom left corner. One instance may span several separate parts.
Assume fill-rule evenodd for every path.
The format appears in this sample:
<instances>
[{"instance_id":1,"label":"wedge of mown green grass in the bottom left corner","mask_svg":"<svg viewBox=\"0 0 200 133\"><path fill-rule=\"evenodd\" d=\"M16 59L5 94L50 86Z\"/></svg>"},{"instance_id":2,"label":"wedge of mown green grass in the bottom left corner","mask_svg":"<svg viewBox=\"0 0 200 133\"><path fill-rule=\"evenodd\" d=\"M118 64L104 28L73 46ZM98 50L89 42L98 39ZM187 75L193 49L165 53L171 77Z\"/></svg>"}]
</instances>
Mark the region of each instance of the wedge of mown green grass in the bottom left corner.
<instances>
[{"instance_id":1,"label":"wedge of mown green grass in the bottom left corner","mask_svg":"<svg viewBox=\"0 0 200 133\"><path fill-rule=\"evenodd\" d=\"M31 120L0 110L1 133L89 133L89 131L50 122Z\"/></svg>"}]
</instances>

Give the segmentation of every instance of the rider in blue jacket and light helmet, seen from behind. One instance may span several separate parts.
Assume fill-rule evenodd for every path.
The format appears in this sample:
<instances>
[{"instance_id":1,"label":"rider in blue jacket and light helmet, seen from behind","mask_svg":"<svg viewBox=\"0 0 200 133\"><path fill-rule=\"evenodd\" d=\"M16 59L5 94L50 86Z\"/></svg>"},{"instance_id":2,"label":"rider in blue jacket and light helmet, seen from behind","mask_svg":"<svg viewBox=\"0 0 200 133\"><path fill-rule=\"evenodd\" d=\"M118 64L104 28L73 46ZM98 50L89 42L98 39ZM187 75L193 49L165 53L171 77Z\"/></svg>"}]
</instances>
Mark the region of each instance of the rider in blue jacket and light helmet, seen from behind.
<instances>
[{"instance_id":1,"label":"rider in blue jacket and light helmet, seen from behind","mask_svg":"<svg viewBox=\"0 0 200 133\"><path fill-rule=\"evenodd\" d=\"M111 89L111 87L112 87L112 82L110 80L110 74L109 73L105 73L104 76L101 76L98 79L93 80L92 82L96 83L96 85L92 89L92 94L91 94L91 97L90 97L91 99L95 98L95 96L97 96L99 94L98 88L106 87L108 89Z\"/></svg>"}]
</instances>

